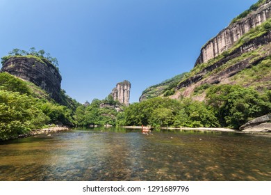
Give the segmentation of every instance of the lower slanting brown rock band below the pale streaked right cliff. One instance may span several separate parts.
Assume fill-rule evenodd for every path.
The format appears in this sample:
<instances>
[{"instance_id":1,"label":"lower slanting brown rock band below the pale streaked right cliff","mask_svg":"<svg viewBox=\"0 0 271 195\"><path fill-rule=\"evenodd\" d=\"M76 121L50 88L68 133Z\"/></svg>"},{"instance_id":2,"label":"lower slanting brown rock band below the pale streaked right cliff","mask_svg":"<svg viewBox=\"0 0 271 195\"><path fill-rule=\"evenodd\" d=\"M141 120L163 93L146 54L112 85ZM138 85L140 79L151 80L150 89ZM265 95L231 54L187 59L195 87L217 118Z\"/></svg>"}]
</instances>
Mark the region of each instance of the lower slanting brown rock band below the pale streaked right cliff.
<instances>
[{"instance_id":1,"label":"lower slanting brown rock band below the pale streaked right cliff","mask_svg":"<svg viewBox=\"0 0 271 195\"><path fill-rule=\"evenodd\" d=\"M180 88L192 86L193 84L196 84L199 81L201 81L199 82L199 84L206 83L219 84L220 82L223 82L224 79L236 75L238 72L244 70L245 68L251 68L253 65L257 65L263 59L270 56L271 54L270 42L271 42L271 31L263 34L262 36L259 36L258 38L249 40L245 44L233 50L233 52L228 54L226 57L218 60L215 63L211 63L206 68L202 68L199 72L197 72L196 75L181 81L176 87L176 89L179 90ZM258 58L255 58L256 54L249 56L248 53L249 52L252 53L256 49L258 49L257 51L259 54ZM244 57L242 60L236 61L236 63L234 63L234 59L237 59L238 57L246 53L247 58ZM252 58L255 59L253 60ZM231 61L233 61L233 63L230 63ZM227 63L229 65L227 65ZM223 65L224 68L221 68ZM221 68L221 70L218 71L218 68ZM207 74L208 77L206 77Z\"/></svg>"}]
</instances>

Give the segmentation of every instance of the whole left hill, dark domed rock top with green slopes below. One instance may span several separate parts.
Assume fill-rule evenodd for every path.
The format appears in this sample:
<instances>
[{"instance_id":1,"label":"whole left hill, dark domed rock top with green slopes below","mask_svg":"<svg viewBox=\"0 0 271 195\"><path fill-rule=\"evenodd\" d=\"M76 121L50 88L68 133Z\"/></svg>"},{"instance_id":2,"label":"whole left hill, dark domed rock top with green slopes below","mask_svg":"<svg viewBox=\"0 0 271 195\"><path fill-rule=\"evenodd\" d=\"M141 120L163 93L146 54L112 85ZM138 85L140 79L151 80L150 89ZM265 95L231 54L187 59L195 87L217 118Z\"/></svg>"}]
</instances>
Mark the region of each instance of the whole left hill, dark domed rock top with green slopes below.
<instances>
[{"instance_id":1,"label":"whole left hill, dark domed rock top with green slopes below","mask_svg":"<svg viewBox=\"0 0 271 195\"><path fill-rule=\"evenodd\" d=\"M78 124L74 114L79 102L60 88L61 75L53 61L37 54L1 58L0 141L51 125Z\"/></svg>"}]
</instances>

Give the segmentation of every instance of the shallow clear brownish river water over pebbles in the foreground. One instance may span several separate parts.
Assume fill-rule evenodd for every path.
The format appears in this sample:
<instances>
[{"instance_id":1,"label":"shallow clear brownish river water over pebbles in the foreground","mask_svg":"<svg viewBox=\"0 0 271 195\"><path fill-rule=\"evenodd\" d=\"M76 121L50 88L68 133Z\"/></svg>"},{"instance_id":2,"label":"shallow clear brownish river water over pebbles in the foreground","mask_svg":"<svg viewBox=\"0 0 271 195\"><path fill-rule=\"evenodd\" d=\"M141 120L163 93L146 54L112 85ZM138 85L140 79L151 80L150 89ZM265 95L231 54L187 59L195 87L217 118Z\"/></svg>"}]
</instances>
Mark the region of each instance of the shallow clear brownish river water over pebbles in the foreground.
<instances>
[{"instance_id":1,"label":"shallow clear brownish river water over pebbles in the foreground","mask_svg":"<svg viewBox=\"0 0 271 195\"><path fill-rule=\"evenodd\" d=\"M0 180L271 180L271 137L73 130L0 144Z\"/></svg>"}]
</instances>

